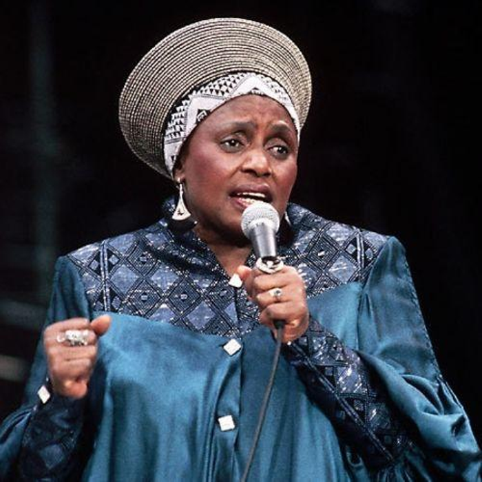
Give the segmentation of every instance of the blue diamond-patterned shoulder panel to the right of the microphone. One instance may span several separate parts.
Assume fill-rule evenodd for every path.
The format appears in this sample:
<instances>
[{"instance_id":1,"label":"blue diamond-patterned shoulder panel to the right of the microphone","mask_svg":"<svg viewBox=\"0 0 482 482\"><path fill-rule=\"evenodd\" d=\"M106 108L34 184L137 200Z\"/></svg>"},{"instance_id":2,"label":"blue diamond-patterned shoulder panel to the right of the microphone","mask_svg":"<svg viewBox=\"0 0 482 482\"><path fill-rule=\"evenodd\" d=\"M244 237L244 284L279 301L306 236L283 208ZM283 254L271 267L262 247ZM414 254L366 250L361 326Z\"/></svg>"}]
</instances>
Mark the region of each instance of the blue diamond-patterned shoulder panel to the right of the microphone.
<instances>
[{"instance_id":1,"label":"blue diamond-patterned shoulder panel to the right of the microphone","mask_svg":"<svg viewBox=\"0 0 482 482\"><path fill-rule=\"evenodd\" d=\"M389 244L388 235L362 229L291 204L287 210L294 239L292 247L309 269L322 274L324 289L363 282L375 260Z\"/></svg>"}]
</instances>

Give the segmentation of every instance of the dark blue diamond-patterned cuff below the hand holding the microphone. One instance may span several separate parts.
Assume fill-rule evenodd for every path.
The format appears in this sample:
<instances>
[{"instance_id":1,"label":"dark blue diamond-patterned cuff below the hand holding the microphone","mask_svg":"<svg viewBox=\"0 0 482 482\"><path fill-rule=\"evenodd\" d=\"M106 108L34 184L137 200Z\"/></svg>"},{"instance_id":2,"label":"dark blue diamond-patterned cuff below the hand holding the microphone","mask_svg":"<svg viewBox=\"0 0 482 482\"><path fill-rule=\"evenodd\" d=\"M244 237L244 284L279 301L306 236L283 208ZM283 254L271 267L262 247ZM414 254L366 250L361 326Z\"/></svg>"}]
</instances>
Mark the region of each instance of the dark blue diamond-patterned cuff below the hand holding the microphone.
<instances>
[{"instance_id":1,"label":"dark blue diamond-patterned cuff below the hand holding the microphone","mask_svg":"<svg viewBox=\"0 0 482 482\"><path fill-rule=\"evenodd\" d=\"M406 430L394 416L384 388L371 377L355 350L311 320L308 331L284 355L297 366L313 398L348 439L359 440L357 450L375 465L392 463L408 443ZM304 370L306 360L313 369ZM353 437L353 434L356 437ZM360 436L362 434L362 436ZM363 435L364 434L364 435Z\"/></svg>"}]
</instances>

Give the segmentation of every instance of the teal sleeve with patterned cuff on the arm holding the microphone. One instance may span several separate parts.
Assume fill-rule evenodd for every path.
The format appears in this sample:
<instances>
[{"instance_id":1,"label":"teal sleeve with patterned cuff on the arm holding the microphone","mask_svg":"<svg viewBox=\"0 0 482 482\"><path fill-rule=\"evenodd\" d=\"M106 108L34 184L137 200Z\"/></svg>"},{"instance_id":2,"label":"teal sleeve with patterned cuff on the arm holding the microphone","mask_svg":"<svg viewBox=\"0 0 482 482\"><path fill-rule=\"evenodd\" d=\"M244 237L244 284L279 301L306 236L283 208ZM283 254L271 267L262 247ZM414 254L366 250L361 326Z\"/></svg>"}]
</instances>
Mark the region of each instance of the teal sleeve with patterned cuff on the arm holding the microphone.
<instances>
[{"instance_id":1,"label":"teal sleeve with patterned cuff on the arm holding the microphone","mask_svg":"<svg viewBox=\"0 0 482 482\"><path fill-rule=\"evenodd\" d=\"M399 241L388 239L363 284L311 300L310 313L284 355L344 441L355 479L478 480L481 454L435 361Z\"/></svg>"}]
</instances>

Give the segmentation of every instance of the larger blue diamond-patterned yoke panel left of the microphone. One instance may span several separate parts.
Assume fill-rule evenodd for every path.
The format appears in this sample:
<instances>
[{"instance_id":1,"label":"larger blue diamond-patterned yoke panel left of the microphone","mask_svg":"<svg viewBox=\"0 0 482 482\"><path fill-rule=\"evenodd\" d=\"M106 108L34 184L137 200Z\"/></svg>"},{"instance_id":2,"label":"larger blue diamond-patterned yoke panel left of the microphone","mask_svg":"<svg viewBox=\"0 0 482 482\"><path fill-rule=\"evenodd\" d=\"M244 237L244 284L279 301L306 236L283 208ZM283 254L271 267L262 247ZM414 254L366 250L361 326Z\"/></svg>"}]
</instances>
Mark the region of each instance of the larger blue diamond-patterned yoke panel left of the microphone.
<instances>
[{"instance_id":1,"label":"larger blue diamond-patterned yoke panel left of the microphone","mask_svg":"<svg viewBox=\"0 0 482 482\"><path fill-rule=\"evenodd\" d=\"M126 313L191 331L241 336L235 293L213 255L193 233L179 244L158 222L147 229L90 244L70 253L87 298L96 311ZM191 238L191 239L189 239ZM246 331L258 325L257 310L244 300Z\"/></svg>"}]
</instances>

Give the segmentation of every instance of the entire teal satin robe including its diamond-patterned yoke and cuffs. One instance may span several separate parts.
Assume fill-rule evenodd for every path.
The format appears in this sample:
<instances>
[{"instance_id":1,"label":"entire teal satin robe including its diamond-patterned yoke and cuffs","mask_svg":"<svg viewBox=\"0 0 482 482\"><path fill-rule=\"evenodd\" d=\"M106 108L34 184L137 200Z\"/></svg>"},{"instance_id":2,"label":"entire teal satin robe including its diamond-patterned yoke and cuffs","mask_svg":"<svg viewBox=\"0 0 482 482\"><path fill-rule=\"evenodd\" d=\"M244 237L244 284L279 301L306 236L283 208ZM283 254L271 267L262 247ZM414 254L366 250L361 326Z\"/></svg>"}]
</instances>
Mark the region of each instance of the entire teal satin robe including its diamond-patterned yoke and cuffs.
<instances>
[{"instance_id":1,"label":"entire teal satin robe including its diamond-patterned yoke and cuffs","mask_svg":"<svg viewBox=\"0 0 482 482\"><path fill-rule=\"evenodd\" d=\"M312 320L284 348L251 480L476 481L480 452L435 362L403 247L300 207L288 212L294 237L281 251L305 273ZM48 322L108 312L112 328L83 418L69 423L76 401L54 410L57 437L75 446L58 470L53 457L35 456L45 442L36 428L53 410L35 401L39 349L25 405L0 430L0 476L238 480L274 346L244 291L227 282L192 233L174 240L163 221L61 258ZM230 356L222 346L232 338L242 349ZM226 415L233 430L220 430ZM359 457L357 440L370 437L381 453L404 443L375 466Z\"/></svg>"}]
</instances>

